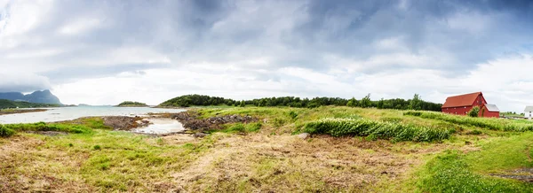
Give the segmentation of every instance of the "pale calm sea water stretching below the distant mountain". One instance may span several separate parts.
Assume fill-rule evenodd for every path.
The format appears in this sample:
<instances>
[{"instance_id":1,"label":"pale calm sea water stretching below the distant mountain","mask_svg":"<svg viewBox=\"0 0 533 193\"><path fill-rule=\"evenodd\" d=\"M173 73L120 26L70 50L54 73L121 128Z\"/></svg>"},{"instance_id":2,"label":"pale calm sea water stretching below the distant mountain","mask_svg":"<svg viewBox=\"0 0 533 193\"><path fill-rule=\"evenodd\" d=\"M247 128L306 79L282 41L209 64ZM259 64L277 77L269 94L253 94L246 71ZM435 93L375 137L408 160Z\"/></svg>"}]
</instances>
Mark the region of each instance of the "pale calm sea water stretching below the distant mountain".
<instances>
[{"instance_id":1,"label":"pale calm sea water stretching below the distant mountain","mask_svg":"<svg viewBox=\"0 0 533 193\"><path fill-rule=\"evenodd\" d=\"M7 114L0 116L0 124L34 123L39 121L53 122L61 120L75 120L89 116L142 116L148 112L184 112L181 109L158 109L149 107L113 107L113 106L87 106L87 107L61 107L49 108L46 112L28 112Z\"/></svg>"}]
</instances>

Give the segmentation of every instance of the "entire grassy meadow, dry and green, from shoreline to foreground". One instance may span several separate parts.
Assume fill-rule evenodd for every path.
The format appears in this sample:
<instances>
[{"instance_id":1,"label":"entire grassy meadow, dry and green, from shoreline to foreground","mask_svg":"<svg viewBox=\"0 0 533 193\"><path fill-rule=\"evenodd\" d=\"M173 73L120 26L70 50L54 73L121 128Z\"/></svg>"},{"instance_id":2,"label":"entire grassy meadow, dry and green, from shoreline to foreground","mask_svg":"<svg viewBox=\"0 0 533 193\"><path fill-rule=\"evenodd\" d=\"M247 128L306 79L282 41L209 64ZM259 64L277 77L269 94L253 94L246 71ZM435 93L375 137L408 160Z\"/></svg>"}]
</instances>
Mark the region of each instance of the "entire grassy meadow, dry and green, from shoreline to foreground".
<instances>
[{"instance_id":1,"label":"entire grassy meadow, dry and green, from shoreline to foreground","mask_svg":"<svg viewBox=\"0 0 533 193\"><path fill-rule=\"evenodd\" d=\"M0 126L9 133L0 137L0 192L533 191L498 177L533 165L529 121L346 106L189 111L259 121L204 138L114 131L99 118ZM298 138L304 132L312 137Z\"/></svg>"}]
</instances>

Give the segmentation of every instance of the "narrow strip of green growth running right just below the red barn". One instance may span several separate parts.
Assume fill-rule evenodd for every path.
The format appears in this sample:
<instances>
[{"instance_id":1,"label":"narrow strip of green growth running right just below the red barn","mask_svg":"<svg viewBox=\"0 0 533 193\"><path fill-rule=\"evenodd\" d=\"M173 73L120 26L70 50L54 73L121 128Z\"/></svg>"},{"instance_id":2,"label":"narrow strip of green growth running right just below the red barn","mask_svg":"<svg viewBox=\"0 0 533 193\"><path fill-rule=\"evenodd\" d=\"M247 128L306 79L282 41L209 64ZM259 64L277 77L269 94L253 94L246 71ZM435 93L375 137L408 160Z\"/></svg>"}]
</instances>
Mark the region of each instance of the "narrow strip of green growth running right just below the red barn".
<instances>
[{"instance_id":1,"label":"narrow strip of green growth running right just below the red barn","mask_svg":"<svg viewBox=\"0 0 533 193\"><path fill-rule=\"evenodd\" d=\"M417 116L428 120L444 120L464 126L482 127L500 131L533 131L533 122L503 120L503 119L481 119L465 116L444 114L440 112L404 112L404 115Z\"/></svg>"}]
</instances>

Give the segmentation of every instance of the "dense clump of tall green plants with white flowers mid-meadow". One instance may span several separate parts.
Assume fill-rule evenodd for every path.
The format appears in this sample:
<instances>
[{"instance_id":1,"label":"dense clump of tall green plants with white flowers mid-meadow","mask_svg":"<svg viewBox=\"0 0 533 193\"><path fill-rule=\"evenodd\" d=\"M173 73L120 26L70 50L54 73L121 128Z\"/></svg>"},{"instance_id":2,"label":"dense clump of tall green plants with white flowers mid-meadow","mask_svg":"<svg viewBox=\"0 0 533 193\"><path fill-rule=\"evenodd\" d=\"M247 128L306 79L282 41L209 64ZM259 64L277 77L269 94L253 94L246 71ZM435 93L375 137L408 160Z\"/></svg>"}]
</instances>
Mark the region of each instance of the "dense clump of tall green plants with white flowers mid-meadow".
<instances>
[{"instance_id":1,"label":"dense clump of tall green plants with white flowers mid-meadow","mask_svg":"<svg viewBox=\"0 0 533 193\"><path fill-rule=\"evenodd\" d=\"M366 119L322 119L306 124L305 130L311 134L333 136L358 135L370 136L369 139L392 139L394 142L432 142L448 139L455 133L450 128L429 128L400 123Z\"/></svg>"}]
</instances>

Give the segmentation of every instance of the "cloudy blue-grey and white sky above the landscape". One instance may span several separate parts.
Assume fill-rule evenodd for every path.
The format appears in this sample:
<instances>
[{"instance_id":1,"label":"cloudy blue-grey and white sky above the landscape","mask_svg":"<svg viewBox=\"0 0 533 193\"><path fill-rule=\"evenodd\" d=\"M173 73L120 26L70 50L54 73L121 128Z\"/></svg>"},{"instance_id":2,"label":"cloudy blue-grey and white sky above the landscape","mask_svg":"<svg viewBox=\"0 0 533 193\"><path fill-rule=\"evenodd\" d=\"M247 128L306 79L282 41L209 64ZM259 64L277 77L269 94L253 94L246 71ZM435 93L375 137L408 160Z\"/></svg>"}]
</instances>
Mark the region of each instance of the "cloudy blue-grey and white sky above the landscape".
<instances>
[{"instance_id":1,"label":"cloudy blue-grey and white sky above the landscape","mask_svg":"<svg viewBox=\"0 0 533 193\"><path fill-rule=\"evenodd\" d=\"M533 104L533 3L0 0L0 92L63 104L202 94Z\"/></svg>"}]
</instances>

